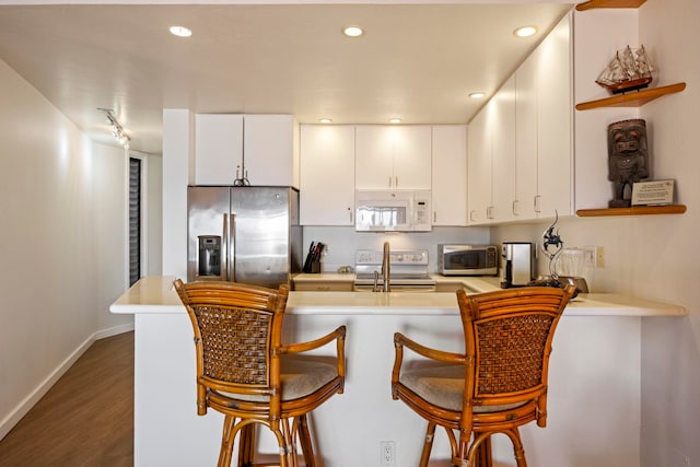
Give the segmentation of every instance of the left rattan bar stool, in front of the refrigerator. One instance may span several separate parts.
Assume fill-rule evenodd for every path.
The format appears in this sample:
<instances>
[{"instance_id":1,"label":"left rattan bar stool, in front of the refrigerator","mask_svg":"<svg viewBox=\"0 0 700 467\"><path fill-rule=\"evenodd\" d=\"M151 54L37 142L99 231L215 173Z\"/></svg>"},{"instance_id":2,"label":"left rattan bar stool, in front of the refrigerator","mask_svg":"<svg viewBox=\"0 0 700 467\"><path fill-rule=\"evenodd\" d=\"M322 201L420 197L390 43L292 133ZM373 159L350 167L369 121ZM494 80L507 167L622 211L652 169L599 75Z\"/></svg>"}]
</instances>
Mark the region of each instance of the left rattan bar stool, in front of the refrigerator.
<instances>
[{"instance_id":1,"label":"left rattan bar stool, in front of the refrigerator","mask_svg":"<svg viewBox=\"0 0 700 467\"><path fill-rule=\"evenodd\" d=\"M306 415L343 392L345 326L308 342L282 345L289 288L233 282L174 282L195 331L197 413L224 415L219 467L231 465L238 436L238 466L298 466L299 439L307 467L315 466ZM299 353L336 341L332 362ZM256 427L267 427L280 448L279 464L255 463Z\"/></svg>"}]
</instances>

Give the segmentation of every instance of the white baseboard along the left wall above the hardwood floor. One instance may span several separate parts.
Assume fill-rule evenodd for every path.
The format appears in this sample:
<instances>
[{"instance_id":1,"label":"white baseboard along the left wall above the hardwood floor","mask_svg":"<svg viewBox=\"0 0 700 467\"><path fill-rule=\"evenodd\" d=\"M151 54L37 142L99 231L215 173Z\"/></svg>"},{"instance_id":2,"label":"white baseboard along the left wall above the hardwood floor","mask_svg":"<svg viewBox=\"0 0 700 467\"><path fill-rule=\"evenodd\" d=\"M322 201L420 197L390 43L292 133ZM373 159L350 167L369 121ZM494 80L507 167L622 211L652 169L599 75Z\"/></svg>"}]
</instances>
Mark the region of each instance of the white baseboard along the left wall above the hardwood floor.
<instances>
[{"instance_id":1,"label":"white baseboard along the left wall above the hardwood floor","mask_svg":"<svg viewBox=\"0 0 700 467\"><path fill-rule=\"evenodd\" d=\"M31 392L2 421L0 421L0 440L2 440L22 420L36 402L48 393L56 382L70 369L95 340L133 330L133 323L98 330L85 339L71 352L33 392Z\"/></svg>"}]
</instances>

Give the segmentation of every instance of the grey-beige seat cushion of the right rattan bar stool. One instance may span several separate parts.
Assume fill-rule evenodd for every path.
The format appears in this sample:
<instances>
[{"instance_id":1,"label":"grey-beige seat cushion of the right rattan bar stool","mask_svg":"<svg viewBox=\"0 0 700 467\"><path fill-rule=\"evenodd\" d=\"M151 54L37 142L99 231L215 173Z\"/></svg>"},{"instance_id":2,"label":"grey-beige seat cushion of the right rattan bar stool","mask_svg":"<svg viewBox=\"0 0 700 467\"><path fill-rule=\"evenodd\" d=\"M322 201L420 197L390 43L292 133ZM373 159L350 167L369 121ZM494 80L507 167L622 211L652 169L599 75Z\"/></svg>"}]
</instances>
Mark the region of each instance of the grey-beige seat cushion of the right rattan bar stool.
<instances>
[{"instance_id":1,"label":"grey-beige seat cushion of the right rattan bar stool","mask_svg":"<svg viewBox=\"0 0 700 467\"><path fill-rule=\"evenodd\" d=\"M422 399L447 410L462 411L464 397L463 365L416 367L405 371L399 382ZM527 402L498 406L474 406L475 413L498 412L524 406Z\"/></svg>"}]
</instances>

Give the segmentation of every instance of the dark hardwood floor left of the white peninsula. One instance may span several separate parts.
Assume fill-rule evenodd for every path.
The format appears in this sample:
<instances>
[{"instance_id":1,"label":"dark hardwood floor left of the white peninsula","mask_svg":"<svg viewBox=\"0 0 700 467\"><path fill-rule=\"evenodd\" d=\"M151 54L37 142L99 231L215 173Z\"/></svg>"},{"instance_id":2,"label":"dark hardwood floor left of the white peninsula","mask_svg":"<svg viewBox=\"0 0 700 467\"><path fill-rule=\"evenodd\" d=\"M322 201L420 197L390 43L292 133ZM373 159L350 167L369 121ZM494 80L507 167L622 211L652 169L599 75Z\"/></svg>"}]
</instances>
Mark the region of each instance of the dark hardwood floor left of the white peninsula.
<instances>
[{"instance_id":1,"label":"dark hardwood floor left of the white peninsula","mask_svg":"<svg viewBox=\"0 0 700 467\"><path fill-rule=\"evenodd\" d=\"M133 332L95 341L0 440L2 467L133 465Z\"/></svg>"}]
</instances>

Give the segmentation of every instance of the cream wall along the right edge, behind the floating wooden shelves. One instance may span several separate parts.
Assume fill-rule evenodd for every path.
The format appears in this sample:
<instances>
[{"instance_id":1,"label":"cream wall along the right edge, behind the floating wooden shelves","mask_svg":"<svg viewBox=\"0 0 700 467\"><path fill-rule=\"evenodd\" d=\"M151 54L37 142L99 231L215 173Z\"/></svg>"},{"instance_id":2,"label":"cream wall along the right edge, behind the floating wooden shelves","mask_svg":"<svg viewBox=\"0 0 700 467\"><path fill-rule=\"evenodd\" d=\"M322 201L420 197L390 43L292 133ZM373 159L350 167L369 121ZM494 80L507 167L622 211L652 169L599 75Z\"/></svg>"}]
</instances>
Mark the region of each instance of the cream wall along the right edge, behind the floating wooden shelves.
<instances>
[{"instance_id":1,"label":"cream wall along the right edge, behind the floating wooden shelves","mask_svg":"<svg viewBox=\"0 0 700 467\"><path fill-rule=\"evenodd\" d=\"M700 256L696 252L700 233L698 17L700 2L696 0L649 1L639 10L640 40L658 70L652 85L687 82L685 92L646 104L639 113L649 128L652 178L674 178L678 202L687 205L688 211L678 215L576 218L559 223L567 246L605 247L606 266L592 271L593 291L630 293L678 303L689 311L681 318L642 319L643 467L700 464L700 304L695 289L700 279ZM498 227L492 231L492 241L535 241L546 227L546 223ZM546 273L545 261L539 266ZM599 397L606 397L605 387L598 389ZM595 397L591 404L595 404Z\"/></svg>"}]
</instances>

